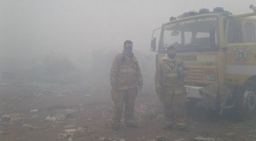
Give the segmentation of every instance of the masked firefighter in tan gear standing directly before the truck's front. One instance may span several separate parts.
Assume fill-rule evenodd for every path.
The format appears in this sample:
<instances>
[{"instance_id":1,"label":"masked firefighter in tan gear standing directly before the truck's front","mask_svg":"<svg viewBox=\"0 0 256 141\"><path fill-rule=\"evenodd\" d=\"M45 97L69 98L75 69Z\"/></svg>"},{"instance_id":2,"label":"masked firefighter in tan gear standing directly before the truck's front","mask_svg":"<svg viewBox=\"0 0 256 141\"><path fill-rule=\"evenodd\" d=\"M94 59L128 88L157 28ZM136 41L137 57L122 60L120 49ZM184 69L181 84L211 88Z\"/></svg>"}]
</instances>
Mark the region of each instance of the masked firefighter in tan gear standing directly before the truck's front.
<instances>
[{"instance_id":1,"label":"masked firefighter in tan gear standing directly before the truck's front","mask_svg":"<svg viewBox=\"0 0 256 141\"><path fill-rule=\"evenodd\" d=\"M173 125L178 128L186 127L186 90L183 84L185 74L186 67L183 61L176 57L175 48L167 48L166 56L157 66L155 74L155 90L164 106L165 129Z\"/></svg>"}]
</instances>

